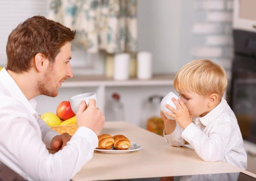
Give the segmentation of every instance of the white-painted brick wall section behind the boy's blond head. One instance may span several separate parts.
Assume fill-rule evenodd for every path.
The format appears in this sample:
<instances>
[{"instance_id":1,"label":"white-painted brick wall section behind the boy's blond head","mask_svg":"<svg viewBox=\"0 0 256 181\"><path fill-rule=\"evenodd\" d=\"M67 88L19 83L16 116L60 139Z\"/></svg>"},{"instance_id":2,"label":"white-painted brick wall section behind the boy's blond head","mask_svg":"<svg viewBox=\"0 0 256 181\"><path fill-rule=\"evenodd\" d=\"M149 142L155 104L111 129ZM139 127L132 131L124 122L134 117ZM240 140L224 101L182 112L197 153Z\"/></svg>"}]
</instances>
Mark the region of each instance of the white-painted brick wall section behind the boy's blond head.
<instances>
[{"instance_id":1,"label":"white-painted brick wall section behind the boy's blond head","mask_svg":"<svg viewBox=\"0 0 256 181\"><path fill-rule=\"evenodd\" d=\"M231 78L233 59L232 0L194 0L192 59L209 58L222 65Z\"/></svg>"}]
</instances>

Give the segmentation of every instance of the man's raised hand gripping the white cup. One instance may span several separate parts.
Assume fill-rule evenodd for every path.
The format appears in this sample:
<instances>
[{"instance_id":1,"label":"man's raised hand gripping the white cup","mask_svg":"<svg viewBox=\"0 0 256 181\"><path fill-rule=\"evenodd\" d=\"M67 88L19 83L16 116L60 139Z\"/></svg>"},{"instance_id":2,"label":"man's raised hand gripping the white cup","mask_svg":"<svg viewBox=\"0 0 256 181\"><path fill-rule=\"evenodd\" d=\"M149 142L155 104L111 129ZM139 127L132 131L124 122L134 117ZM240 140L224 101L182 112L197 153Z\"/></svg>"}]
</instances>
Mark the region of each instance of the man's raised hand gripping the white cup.
<instances>
[{"instance_id":1,"label":"man's raised hand gripping the white cup","mask_svg":"<svg viewBox=\"0 0 256 181\"><path fill-rule=\"evenodd\" d=\"M99 135L104 126L105 117L102 114L102 111L96 107L95 99L90 99L88 107L84 101L78 107L76 113L76 123L78 127L85 126Z\"/></svg>"}]
</instances>

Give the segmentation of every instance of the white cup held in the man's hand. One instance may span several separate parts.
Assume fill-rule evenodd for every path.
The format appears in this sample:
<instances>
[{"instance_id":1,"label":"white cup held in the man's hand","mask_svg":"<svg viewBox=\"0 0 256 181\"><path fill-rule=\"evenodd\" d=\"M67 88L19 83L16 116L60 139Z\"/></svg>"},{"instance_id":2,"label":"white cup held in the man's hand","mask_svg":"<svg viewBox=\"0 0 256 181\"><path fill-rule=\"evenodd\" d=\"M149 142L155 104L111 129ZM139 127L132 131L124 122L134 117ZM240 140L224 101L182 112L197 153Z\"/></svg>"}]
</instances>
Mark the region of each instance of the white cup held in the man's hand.
<instances>
[{"instance_id":1,"label":"white cup held in the man's hand","mask_svg":"<svg viewBox=\"0 0 256 181\"><path fill-rule=\"evenodd\" d=\"M97 97L95 92L81 93L76 96L70 97L69 101L70 101L71 109L73 110L74 113L76 113L82 100L84 100L86 105L88 106L90 99L96 100L96 107L97 107Z\"/></svg>"}]
</instances>

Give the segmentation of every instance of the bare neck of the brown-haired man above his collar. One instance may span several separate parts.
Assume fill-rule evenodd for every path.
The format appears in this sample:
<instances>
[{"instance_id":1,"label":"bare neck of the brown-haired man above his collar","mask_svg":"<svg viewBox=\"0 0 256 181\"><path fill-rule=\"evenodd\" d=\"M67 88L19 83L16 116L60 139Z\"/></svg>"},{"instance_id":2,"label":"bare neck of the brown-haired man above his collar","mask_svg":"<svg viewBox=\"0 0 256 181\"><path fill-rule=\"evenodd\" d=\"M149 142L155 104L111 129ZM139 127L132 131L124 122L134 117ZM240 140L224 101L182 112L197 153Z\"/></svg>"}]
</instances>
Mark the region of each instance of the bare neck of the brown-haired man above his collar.
<instances>
[{"instance_id":1,"label":"bare neck of the brown-haired man above his collar","mask_svg":"<svg viewBox=\"0 0 256 181\"><path fill-rule=\"evenodd\" d=\"M12 77L12 79L14 79L14 81L28 100L40 94L38 90L35 89L37 87L37 82L36 76L33 75L32 71L30 71L29 73L23 72L20 74L17 74L10 70L7 70L7 72Z\"/></svg>"}]
</instances>

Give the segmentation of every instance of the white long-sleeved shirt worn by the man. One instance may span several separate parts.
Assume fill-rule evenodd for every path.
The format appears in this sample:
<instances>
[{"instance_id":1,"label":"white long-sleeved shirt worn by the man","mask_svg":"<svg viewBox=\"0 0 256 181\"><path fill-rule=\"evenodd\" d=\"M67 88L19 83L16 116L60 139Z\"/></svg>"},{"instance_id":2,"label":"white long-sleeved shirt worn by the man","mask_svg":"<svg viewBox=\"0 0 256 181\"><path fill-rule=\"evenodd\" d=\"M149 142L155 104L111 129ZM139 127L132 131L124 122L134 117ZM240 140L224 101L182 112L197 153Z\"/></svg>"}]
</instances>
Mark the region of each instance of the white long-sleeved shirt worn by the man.
<instances>
[{"instance_id":1,"label":"white long-sleeved shirt worn by the man","mask_svg":"<svg viewBox=\"0 0 256 181\"><path fill-rule=\"evenodd\" d=\"M28 100L5 68L0 71L0 165L27 180L70 180L93 157L98 137L79 127L67 146L49 153L59 135L38 116L35 99ZM2 163L1 163L2 162Z\"/></svg>"}]
</instances>

